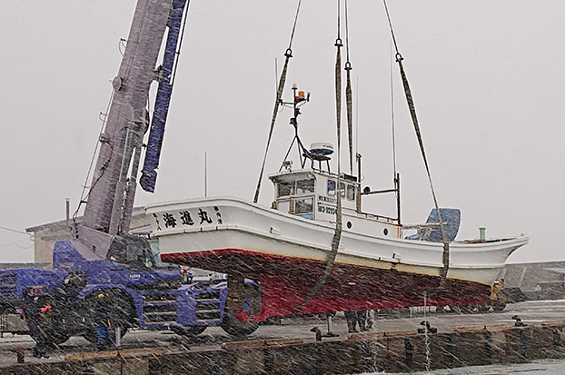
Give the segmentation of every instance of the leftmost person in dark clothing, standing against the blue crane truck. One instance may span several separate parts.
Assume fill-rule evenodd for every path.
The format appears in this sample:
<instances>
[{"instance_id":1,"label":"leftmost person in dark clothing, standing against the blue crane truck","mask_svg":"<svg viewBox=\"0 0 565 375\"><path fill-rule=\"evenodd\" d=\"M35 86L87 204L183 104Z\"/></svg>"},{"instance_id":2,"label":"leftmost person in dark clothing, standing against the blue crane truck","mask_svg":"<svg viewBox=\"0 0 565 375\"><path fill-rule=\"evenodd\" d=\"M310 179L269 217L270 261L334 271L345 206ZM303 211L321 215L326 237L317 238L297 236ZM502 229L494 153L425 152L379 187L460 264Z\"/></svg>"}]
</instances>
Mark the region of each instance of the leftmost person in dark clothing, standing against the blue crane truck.
<instances>
[{"instance_id":1,"label":"leftmost person in dark clothing, standing against the blue crane truck","mask_svg":"<svg viewBox=\"0 0 565 375\"><path fill-rule=\"evenodd\" d=\"M34 357L49 358L47 346L49 345L51 305L35 297L33 291L25 295L24 317L29 328L29 334L35 340Z\"/></svg>"}]
</instances>

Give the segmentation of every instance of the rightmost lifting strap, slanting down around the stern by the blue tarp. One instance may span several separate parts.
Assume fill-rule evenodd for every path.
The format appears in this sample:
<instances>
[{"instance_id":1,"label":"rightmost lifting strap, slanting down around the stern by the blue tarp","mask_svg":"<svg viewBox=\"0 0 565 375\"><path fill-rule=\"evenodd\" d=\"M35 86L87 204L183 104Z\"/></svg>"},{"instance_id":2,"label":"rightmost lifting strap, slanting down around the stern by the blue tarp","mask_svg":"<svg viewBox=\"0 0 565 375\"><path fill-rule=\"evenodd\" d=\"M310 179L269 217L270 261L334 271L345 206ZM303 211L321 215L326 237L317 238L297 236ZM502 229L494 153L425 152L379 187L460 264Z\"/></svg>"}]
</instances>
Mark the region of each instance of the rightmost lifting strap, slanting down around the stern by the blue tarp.
<instances>
[{"instance_id":1,"label":"rightmost lifting strap, slanting down around the stern by the blue tarp","mask_svg":"<svg viewBox=\"0 0 565 375\"><path fill-rule=\"evenodd\" d=\"M389 20L389 26L391 28L392 42L394 43L394 49L396 50L396 62L401 68L401 78L402 84L404 85L404 94L406 95L406 102L408 103L408 108L410 109L412 123L414 124L414 130L416 131L416 137L418 138L418 143L420 144L421 157L423 159L424 165L426 167L426 173L428 173L428 181L430 182L431 196L433 197L433 204L435 205L435 210L438 213L438 221L440 222L440 232L441 240L443 242L443 267L441 269L441 279L439 289L443 288L445 281L447 279L447 272L450 268L450 242L445 233L445 227L443 221L441 220L440 206L438 205L438 200L436 199L435 191L433 189L433 183L431 183L430 167L428 166L428 159L426 158L426 152L424 151L423 141L421 139L420 126L418 124L418 117L416 116L416 108L414 107L414 101L412 99L412 94L410 90L410 85L408 84L408 79L406 78L406 73L404 72L404 66L402 66L402 55L398 51L398 44L396 44L396 38L394 37L394 31L392 30L391 16L389 15L389 9L386 5L386 0L382 0L384 3L384 9L386 11L386 16Z\"/></svg>"}]
</instances>

